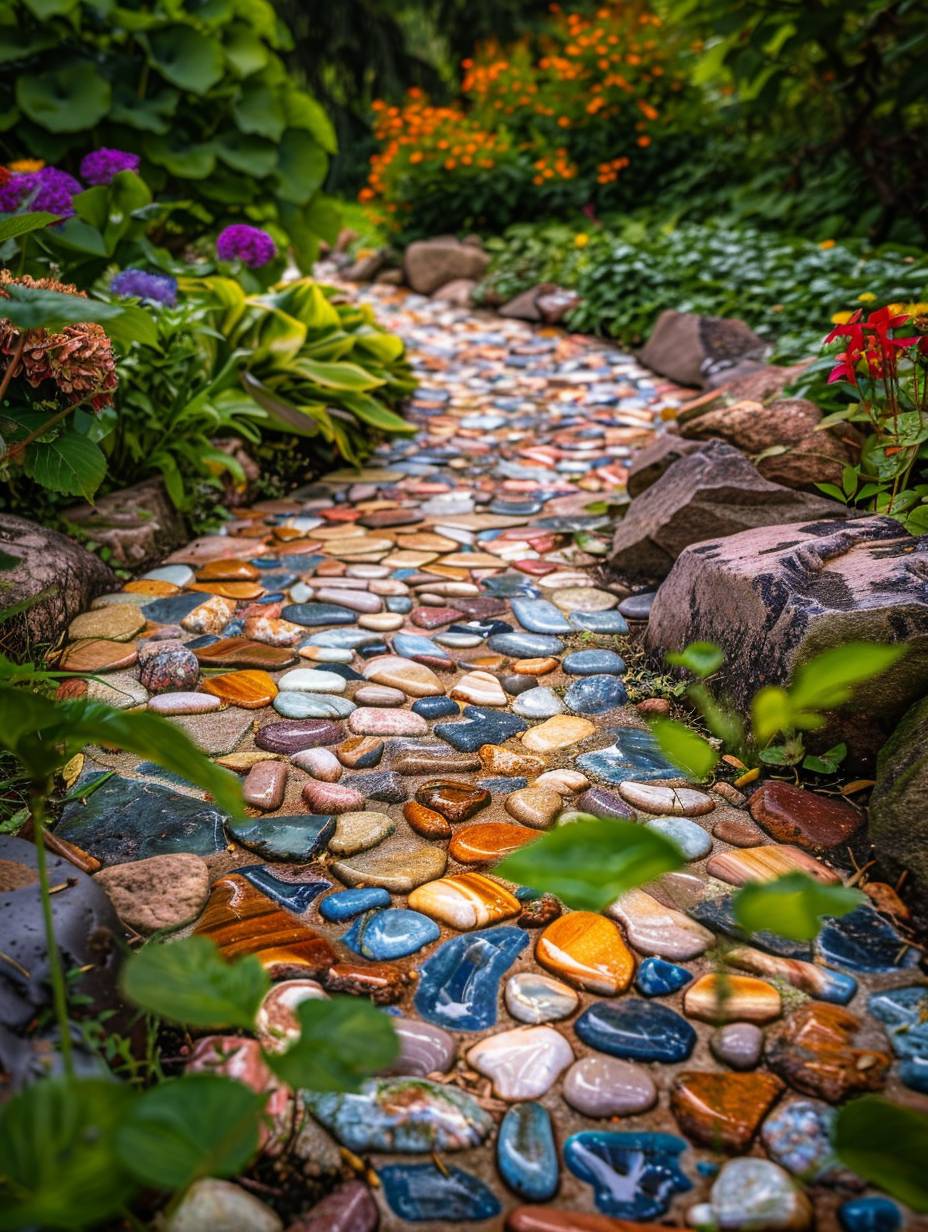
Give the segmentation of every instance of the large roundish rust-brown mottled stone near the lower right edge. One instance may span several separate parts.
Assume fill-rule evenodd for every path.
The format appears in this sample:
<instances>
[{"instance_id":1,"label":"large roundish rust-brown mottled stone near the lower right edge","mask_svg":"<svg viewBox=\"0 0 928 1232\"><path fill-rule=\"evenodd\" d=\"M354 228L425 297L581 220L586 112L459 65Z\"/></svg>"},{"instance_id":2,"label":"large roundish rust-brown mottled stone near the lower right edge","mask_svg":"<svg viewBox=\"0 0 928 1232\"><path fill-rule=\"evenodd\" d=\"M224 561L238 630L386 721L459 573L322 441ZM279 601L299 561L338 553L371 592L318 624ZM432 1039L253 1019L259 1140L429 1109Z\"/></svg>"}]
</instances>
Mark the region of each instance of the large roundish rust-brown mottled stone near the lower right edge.
<instances>
[{"instance_id":1,"label":"large roundish rust-brown mottled stone near the lower right edge","mask_svg":"<svg viewBox=\"0 0 928 1232\"><path fill-rule=\"evenodd\" d=\"M839 1104L880 1090L892 1058L875 1023L843 1005L810 1002L768 1032L767 1062L796 1090Z\"/></svg>"}]
</instances>

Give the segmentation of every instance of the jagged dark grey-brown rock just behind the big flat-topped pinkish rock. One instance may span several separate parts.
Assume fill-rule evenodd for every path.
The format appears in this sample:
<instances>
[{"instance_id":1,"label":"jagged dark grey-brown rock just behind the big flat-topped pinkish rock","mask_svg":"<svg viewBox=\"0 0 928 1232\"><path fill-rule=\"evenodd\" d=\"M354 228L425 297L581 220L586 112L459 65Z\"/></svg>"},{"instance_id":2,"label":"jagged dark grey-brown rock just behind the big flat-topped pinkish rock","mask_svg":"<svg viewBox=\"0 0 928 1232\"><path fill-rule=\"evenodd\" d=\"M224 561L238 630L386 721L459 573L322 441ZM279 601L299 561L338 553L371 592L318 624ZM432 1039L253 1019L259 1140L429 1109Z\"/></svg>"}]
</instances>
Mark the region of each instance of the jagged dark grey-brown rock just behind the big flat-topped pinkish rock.
<instances>
[{"instance_id":1,"label":"jagged dark grey-brown rock just behind the big flat-topped pinkish rock","mask_svg":"<svg viewBox=\"0 0 928 1232\"><path fill-rule=\"evenodd\" d=\"M758 526L847 516L837 501L770 483L737 450L707 441L673 461L632 500L615 532L610 563L626 577L663 578L691 543Z\"/></svg>"}]
</instances>

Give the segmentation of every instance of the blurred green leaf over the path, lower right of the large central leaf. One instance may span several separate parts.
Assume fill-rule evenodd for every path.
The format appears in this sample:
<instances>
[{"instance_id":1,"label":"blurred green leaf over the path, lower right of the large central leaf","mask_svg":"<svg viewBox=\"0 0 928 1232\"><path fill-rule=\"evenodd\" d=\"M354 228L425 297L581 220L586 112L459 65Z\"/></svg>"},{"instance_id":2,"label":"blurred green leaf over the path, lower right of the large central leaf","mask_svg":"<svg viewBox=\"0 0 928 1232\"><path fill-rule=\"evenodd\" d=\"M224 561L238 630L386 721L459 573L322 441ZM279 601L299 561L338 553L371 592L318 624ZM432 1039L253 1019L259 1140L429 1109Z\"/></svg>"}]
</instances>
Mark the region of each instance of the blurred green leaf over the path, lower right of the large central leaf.
<instances>
[{"instance_id":1,"label":"blurred green leaf over the path, lower right of the large central leaf","mask_svg":"<svg viewBox=\"0 0 928 1232\"><path fill-rule=\"evenodd\" d=\"M746 933L765 930L811 941L822 928L822 917L847 915L866 901L859 890L823 886L805 872L790 872L775 881L749 882L732 899L732 909Z\"/></svg>"}]
</instances>

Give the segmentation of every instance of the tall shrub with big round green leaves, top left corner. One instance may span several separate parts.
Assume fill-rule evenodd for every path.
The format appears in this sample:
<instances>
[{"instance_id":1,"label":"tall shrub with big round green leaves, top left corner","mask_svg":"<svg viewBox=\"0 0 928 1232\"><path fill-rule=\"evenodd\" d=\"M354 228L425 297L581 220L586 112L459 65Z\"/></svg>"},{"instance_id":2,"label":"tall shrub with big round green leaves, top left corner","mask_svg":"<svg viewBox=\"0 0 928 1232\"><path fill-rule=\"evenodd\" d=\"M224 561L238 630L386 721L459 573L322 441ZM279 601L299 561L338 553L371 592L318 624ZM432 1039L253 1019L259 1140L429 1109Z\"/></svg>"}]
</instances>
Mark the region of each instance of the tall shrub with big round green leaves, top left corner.
<instances>
[{"instance_id":1,"label":"tall shrub with big round green leaves, top left corner","mask_svg":"<svg viewBox=\"0 0 928 1232\"><path fill-rule=\"evenodd\" d=\"M92 131L140 155L177 209L175 246L216 222L280 225L302 264L338 218L320 193L335 138L290 79L290 34L267 0L10 0L0 10L0 154L78 172Z\"/></svg>"}]
</instances>

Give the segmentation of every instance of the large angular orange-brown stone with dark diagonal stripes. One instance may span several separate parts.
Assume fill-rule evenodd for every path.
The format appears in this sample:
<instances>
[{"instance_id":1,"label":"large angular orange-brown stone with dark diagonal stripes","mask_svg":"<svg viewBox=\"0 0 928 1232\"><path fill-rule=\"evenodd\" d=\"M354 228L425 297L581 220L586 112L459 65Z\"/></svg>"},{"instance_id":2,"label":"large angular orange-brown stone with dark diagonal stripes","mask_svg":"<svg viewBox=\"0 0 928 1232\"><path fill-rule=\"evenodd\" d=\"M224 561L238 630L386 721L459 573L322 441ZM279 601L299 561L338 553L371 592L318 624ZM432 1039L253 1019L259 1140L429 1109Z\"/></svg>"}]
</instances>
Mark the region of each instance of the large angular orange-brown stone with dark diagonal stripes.
<instances>
[{"instance_id":1,"label":"large angular orange-brown stone with dark diagonal stripes","mask_svg":"<svg viewBox=\"0 0 928 1232\"><path fill-rule=\"evenodd\" d=\"M237 873L216 882L193 933L208 936L224 958L256 954L265 967L322 975L335 961L325 938Z\"/></svg>"}]
</instances>

